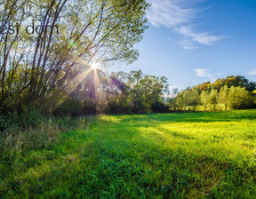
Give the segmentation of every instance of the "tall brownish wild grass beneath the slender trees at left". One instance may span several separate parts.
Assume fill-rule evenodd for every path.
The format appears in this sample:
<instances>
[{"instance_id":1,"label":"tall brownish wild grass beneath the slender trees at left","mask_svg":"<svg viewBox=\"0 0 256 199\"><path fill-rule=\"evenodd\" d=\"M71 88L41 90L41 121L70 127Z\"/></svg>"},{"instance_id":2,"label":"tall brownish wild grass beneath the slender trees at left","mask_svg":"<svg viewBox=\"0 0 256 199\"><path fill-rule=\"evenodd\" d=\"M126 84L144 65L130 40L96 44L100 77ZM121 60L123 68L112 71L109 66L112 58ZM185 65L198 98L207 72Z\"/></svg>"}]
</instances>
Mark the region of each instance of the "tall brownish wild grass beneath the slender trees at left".
<instances>
[{"instance_id":1,"label":"tall brownish wild grass beneath the slender trees at left","mask_svg":"<svg viewBox=\"0 0 256 199\"><path fill-rule=\"evenodd\" d=\"M2 157L12 157L29 150L51 148L60 139L60 132L84 128L84 118L82 117L45 118L39 115L35 119L34 116L31 115L27 122L21 119L21 123L25 123L25 125L15 123L16 115L12 118L7 117L7 123L10 126L6 126L4 131L0 132Z\"/></svg>"}]
</instances>

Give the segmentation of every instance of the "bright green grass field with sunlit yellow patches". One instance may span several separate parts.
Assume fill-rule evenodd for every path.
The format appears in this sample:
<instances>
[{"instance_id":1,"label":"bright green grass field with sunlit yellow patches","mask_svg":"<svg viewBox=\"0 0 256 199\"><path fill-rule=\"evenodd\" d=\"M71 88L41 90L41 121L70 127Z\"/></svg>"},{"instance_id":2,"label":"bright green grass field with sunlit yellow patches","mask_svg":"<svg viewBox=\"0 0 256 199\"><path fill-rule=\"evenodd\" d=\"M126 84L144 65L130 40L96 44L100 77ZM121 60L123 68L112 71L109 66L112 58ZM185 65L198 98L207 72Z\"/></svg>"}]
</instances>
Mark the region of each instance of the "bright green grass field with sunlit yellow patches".
<instances>
[{"instance_id":1,"label":"bright green grass field with sunlit yellow patches","mask_svg":"<svg viewBox=\"0 0 256 199\"><path fill-rule=\"evenodd\" d=\"M256 110L105 115L2 159L1 198L256 198Z\"/></svg>"}]
</instances>

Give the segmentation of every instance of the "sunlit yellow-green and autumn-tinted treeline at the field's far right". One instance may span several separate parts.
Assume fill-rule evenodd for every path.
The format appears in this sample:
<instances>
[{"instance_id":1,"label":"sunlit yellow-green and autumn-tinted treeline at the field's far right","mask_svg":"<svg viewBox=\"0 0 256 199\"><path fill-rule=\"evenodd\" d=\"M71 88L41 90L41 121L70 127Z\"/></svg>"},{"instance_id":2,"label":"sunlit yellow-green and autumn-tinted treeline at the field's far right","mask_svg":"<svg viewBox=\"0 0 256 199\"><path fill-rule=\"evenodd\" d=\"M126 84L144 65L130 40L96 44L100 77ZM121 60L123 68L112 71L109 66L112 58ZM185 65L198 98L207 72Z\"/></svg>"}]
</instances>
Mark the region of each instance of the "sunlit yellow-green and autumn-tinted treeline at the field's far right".
<instances>
[{"instance_id":1,"label":"sunlit yellow-green and autumn-tinted treeline at the field's far right","mask_svg":"<svg viewBox=\"0 0 256 199\"><path fill-rule=\"evenodd\" d=\"M173 111L253 108L256 103L255 89L256 84L249 82L244 76L227 76L212 84L206 82L188 87L179 93L174 89L174 97L168 100L168 106Z\"/></svg>"}]
</instances>

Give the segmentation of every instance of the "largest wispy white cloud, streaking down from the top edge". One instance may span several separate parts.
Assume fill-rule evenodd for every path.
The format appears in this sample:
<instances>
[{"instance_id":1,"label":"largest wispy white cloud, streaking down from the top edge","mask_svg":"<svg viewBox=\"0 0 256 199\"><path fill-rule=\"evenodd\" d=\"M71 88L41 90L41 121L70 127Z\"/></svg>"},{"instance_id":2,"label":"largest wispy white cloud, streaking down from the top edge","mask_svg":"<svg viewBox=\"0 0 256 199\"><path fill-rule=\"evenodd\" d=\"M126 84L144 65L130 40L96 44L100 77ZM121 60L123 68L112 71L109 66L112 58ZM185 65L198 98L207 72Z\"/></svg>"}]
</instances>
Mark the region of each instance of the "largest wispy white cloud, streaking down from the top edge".
<instances>
[{"instance_id":1,"label":"largest wispy white cloud, streaking down from the top edge","mask_svg":"<svg viewBox=\"0 0 256 199\"><path fill-rule=\"evenodd\" d=\"M174 33L181 36L179 44L184 49L196 49L198 44L212 45L226 38L225 36L214 36L207 32L196 31L195 27L192 27L192 21L198 18L199 12L203 11L194 6L199 0L148 1L152 4L147 13L149 22L156 27L172 28Z\"/></svg>"}]
</instances>

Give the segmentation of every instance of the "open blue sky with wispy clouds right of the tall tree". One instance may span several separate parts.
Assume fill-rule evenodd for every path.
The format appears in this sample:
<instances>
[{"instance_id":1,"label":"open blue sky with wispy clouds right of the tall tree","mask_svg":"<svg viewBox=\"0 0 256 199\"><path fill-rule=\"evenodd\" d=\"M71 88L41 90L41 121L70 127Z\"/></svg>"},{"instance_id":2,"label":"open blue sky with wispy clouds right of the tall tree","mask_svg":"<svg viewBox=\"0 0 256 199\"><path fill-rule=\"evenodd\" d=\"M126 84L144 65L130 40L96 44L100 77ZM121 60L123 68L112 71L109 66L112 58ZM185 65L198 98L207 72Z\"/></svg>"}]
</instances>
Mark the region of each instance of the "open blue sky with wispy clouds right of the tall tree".
<instances>
[{"instance_id":1,"label":"open blue sky with wispy clouds right of the tall tree","mask_svg":"<svg viewBox=\"0 0 256 199\"><path fill-rule=\"evenodd\" d=\"M256 80L256 1L149 2L139 60L110 70L166 76L171 90L230 75Z\"/></svg>"}]
</instances>

